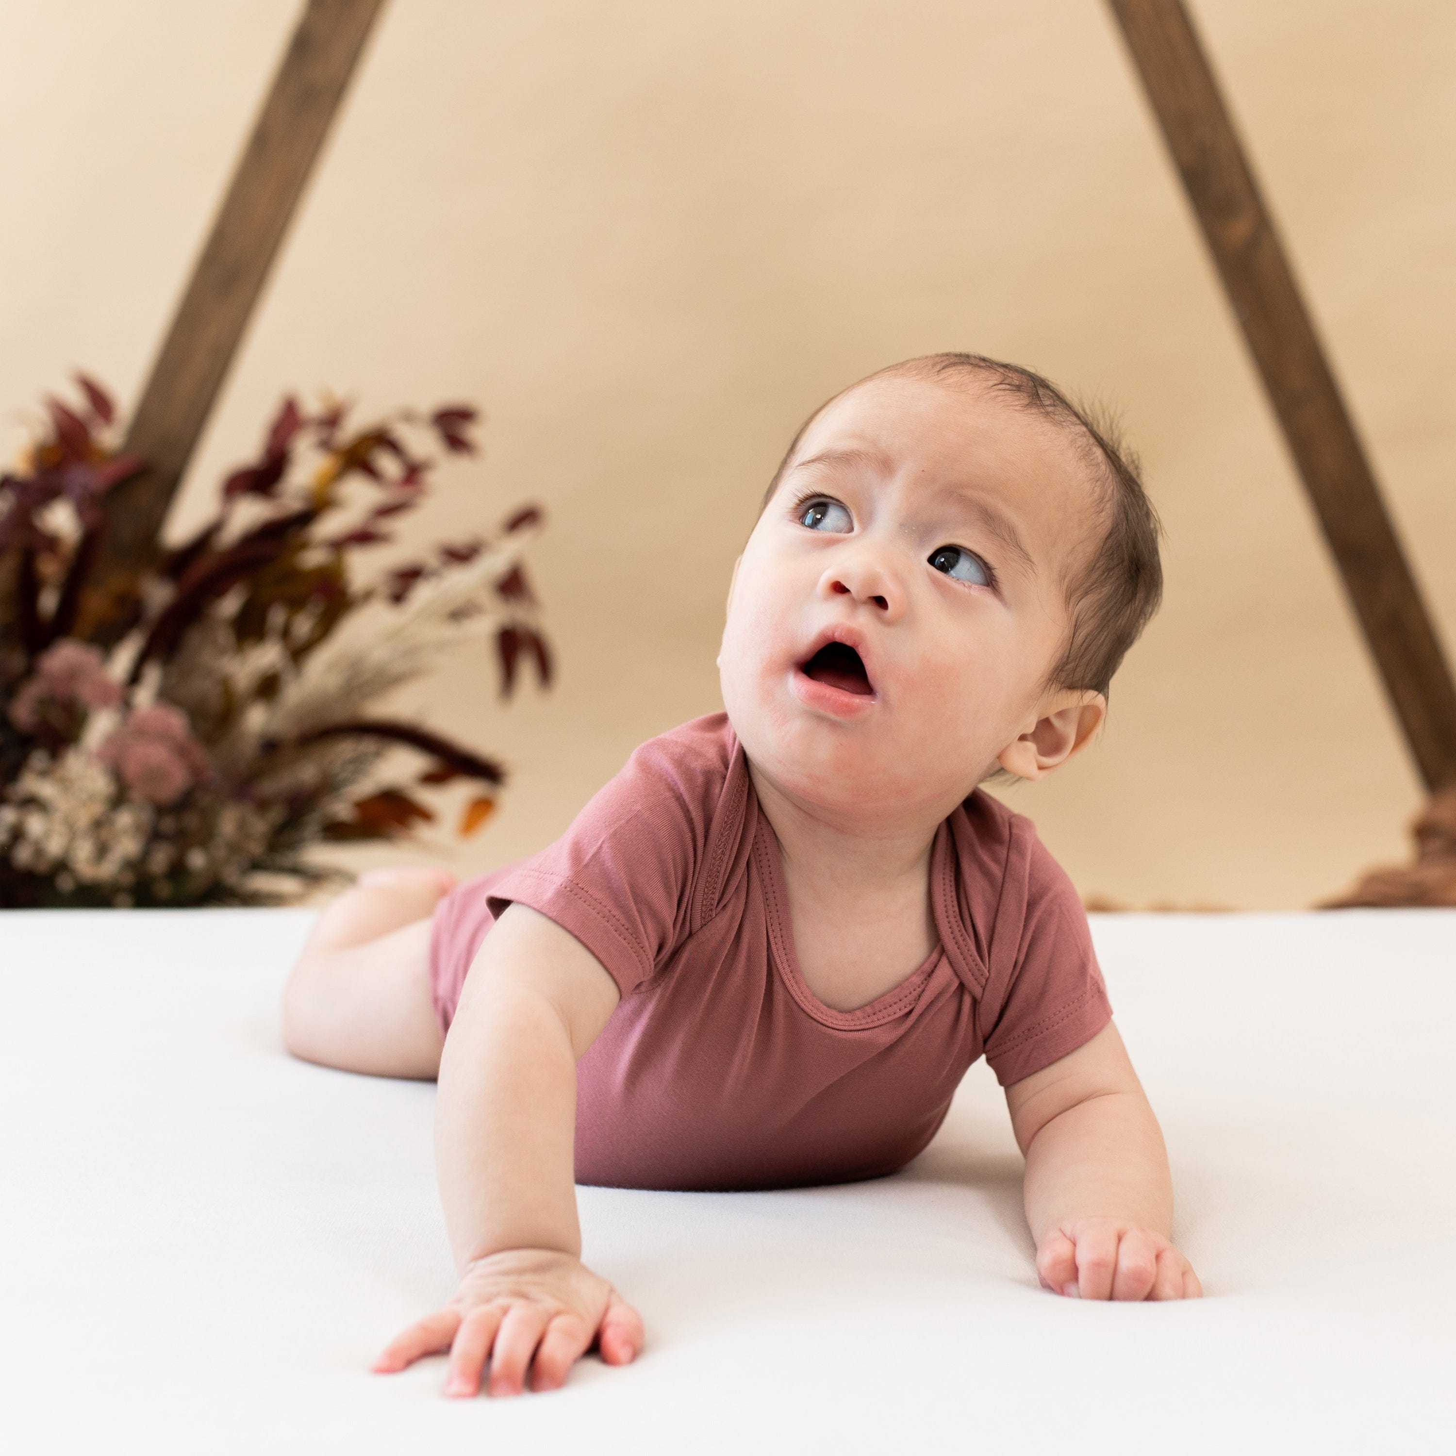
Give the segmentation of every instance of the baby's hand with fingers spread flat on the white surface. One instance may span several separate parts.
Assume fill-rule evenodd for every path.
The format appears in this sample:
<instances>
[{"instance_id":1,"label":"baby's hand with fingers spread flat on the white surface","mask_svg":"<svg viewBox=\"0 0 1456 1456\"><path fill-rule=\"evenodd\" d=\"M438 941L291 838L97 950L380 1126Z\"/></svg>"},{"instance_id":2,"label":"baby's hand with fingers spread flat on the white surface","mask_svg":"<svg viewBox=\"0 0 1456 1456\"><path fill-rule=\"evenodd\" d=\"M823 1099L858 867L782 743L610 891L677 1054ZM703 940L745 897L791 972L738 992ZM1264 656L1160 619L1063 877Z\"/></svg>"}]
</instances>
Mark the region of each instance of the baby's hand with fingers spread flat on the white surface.
<instances>
[{"instance_id":1,"label":"baby's hand with fingers spread flat on the white surface","mask_svg":"<svg viewBox=\"0 0 1456 1456\"><path fill-rule=\"evenodd\" d=\"M520 1395L533 1354L531 1389L553 1390L594 1344L607 1364L628 1364L642 1348L642 1318L569 1254L504 1249L469 1264L454 1299L399 1335L374 1370L448 1350L446 1395L476 1395L486 1358L489 1393Z\"/></svg>"}]
</instances>

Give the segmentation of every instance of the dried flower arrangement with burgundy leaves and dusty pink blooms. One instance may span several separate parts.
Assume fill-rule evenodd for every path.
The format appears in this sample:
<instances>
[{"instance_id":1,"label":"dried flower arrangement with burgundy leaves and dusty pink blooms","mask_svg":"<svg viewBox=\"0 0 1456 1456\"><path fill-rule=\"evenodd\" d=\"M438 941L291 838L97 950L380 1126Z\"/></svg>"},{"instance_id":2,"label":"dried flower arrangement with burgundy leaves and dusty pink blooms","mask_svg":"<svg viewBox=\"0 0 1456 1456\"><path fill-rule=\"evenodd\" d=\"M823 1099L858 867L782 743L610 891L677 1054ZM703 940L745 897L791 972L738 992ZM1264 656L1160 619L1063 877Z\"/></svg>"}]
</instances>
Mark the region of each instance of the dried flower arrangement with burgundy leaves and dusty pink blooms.
<instances>
[{"instance_id":1,"label":"dried flower arrangement with burgundy leaves and dusty pink blooms","mask_svg":"<svg viewBox=\"0 0 1456 1456\"><path fill-rule=\"evenodd\" d=\"M348 878L312 846L408 836L437 817L419 786L457 779L476 786L459 833L478 830L501 766L367 709L482 635L504 695L527 660L549 684L521 559L540 511L364 582L352 569L425 495L421 440L473 454L476 411L348 431L348 406L290 397L215 515L102 588L108 494L146 462L118 454L109 395L77 384L0 476L0 906L287 903ZM379 782L400 748L412 782Z\"/></svg>"}]
</instances>

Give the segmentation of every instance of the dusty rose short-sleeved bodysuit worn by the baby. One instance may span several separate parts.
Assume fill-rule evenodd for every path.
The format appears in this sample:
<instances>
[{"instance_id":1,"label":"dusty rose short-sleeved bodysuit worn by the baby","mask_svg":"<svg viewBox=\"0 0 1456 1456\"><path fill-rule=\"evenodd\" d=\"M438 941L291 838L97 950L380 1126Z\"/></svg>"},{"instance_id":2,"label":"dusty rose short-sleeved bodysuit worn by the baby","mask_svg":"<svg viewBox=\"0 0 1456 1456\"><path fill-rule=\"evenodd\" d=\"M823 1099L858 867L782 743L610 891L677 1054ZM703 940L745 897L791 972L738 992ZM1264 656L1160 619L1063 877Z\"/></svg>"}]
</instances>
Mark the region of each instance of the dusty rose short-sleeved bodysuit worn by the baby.
<instances>
[{"instance_id":1,"label":"dusty rose short-sleeved bodysuit worn by the baby","mask_svg":"<svg viewBox=\"0 0 1456 1456\"><path fill-rule=\"evenodd\" d=\"M569 930L622 1000L577 1066L577 1181L729 1190L894 1172L984 1051L1002 1085L1108 1022L1082 903L1031 821L977 791L936 830L941 943L858 1010L805 984L773 827L725 713L645 743L555 844L435 911L448 1028L511 901Z\"/></svg>"}]
</instances>

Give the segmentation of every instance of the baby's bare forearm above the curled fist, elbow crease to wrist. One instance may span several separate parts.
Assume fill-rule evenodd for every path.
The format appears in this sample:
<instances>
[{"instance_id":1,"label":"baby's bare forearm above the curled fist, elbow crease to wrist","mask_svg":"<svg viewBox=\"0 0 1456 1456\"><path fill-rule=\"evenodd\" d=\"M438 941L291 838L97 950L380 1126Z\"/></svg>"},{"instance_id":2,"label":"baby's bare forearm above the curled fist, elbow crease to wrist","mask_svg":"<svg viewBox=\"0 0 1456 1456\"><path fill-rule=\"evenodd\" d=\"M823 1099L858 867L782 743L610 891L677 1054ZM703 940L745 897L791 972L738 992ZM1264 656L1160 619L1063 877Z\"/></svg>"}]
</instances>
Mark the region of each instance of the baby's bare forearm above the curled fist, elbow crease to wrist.
<instances>
[{"instance_id":1,"label":"baby's bare forearm above the curled fist, elbow crease to wrist","mask_svg":"<svg viewBox=\"0 0 1456 1456\"><path fill-rule=\"evenodd\" d=\"M1127 1219L1168 1238L1174 1191L1168 1153L1142 1092L1107 1092L1067 1108L1026 1149L1026 1222L1038 1246L1089 1214Z\"/></svg>"}]
</instances>

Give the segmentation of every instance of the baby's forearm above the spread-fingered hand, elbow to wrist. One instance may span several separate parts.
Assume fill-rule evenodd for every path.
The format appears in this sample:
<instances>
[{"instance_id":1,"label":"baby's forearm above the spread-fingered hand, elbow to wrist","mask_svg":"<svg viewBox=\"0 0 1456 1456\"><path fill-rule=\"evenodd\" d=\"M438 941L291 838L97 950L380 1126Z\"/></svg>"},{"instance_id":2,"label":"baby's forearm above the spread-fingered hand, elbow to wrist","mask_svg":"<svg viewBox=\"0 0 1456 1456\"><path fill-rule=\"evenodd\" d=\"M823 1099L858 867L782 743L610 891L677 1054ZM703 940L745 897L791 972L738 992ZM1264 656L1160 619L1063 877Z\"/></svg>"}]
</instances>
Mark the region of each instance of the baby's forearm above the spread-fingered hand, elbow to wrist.
<instances>
[{"instance_id":1,"label":"baby's forearm above the spread-fingered hand, elbow to wrist","mask_svg":"<svg viewBox=\"0 0 1456 1456\"><path fill-rule=\"evenodd\" d=\"M518 984L472 976L440 1057L435 1105L440 1195L460 1268L502 1249L581 1257L575 1117L577 1061L555 1008Z\"/></svg>"}]
</instances>

